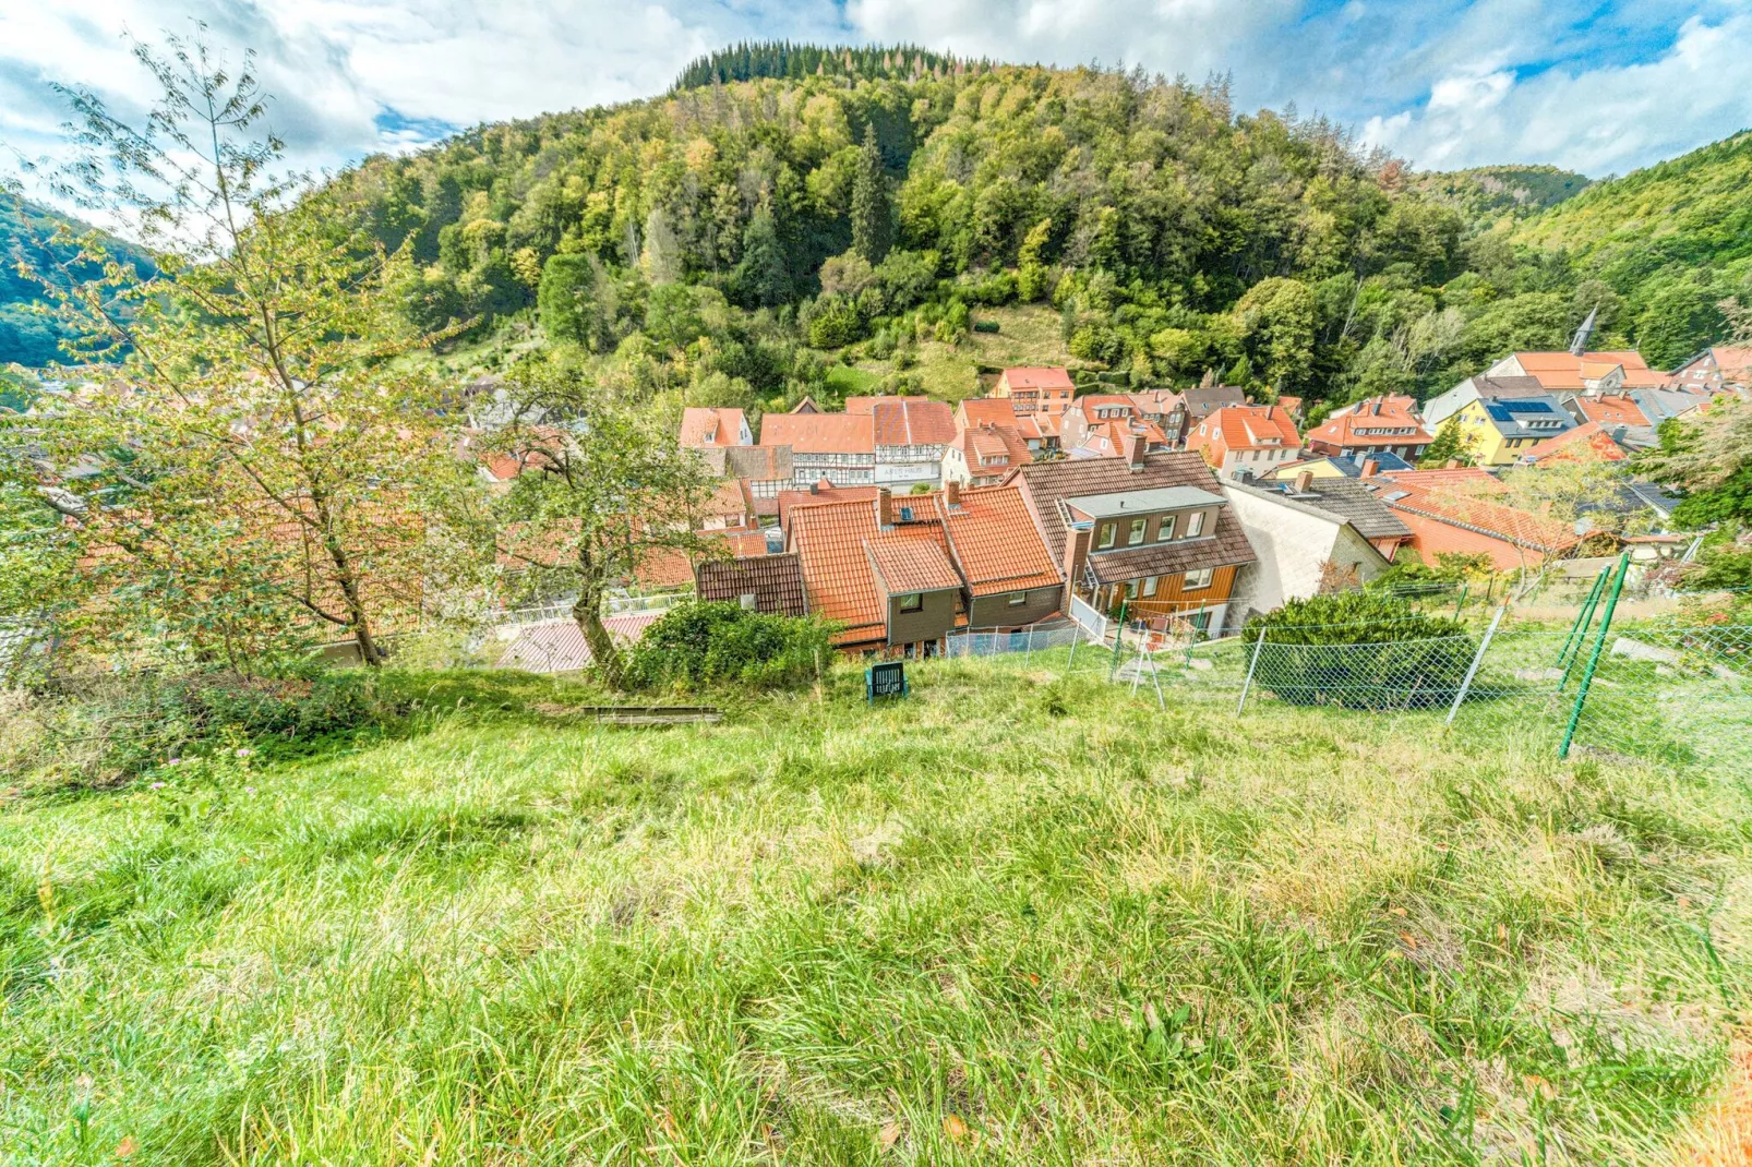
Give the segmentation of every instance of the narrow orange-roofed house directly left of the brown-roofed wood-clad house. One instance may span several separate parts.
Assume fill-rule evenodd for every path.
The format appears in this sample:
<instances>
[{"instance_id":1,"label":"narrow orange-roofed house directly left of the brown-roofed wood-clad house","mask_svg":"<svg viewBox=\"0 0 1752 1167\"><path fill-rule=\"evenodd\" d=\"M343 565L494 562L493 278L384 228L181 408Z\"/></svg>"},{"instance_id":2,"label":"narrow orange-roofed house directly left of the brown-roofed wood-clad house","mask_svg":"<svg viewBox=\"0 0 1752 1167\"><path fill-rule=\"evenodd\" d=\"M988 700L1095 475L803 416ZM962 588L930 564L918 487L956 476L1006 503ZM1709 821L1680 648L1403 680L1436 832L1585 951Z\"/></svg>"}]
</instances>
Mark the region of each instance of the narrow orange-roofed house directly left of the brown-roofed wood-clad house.
<instances>
[{"instance_id":1,"label":"narrow orange-roofed house directly left of the brown-roofed wood-clad house","mask_svg":"<svg viewBox=\"0 0 1752 1167\"><path fill-rule=\"evenodd\" d=\"M932 505L962 576L967 627L1016 629L1062 612L1063 576L1021 485L964 491L950 482L932 494Z\"/></svg>"}]
</instances>

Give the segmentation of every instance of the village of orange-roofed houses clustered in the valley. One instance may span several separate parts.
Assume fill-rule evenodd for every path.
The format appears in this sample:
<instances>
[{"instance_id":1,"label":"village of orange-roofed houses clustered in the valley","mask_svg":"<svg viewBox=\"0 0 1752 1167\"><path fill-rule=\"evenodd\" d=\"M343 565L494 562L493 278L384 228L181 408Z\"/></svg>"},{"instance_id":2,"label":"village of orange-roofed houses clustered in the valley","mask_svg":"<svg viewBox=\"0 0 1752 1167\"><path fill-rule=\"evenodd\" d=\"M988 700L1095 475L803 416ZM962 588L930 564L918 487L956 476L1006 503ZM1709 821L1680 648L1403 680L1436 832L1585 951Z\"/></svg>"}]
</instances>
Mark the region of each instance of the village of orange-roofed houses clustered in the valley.
<instances>
[{"instance_id":1,"label":"village of orange-roofed houses clustered in the valley","mask_svg":"<svg viewBox=\"0 0 1752 1167\"><path fill-rule=\"evenodd\" d=\"M1696 538L1670 529L1677 499L1629 459L1663 422L1747 394L1752 350L1713 347L1663 373L1589 350L1591 331L1565 352L1507 354L1423 407L1382 394L1316 424L1296 398L1254 401L1209 377L1118 391L1063 366L1006 368L957 405L804 400L759 435L739 408L690 407L678 442L720 478L699 520L717 554L648 562L615 633L636 640L692 592L832 620L841 652L872 659L930 659L969 631L1107 634L1116 619L1212 640L1395 564L1465 564L1482 591L1584 550L1684 559ZM1452 456L1431 464L1440 435ZM1610 478L1605 498L1570 499L1598 517L1505 485L1579 464ZM548 661L583 664L573 650Z\"/></svg>"}]
</instances>

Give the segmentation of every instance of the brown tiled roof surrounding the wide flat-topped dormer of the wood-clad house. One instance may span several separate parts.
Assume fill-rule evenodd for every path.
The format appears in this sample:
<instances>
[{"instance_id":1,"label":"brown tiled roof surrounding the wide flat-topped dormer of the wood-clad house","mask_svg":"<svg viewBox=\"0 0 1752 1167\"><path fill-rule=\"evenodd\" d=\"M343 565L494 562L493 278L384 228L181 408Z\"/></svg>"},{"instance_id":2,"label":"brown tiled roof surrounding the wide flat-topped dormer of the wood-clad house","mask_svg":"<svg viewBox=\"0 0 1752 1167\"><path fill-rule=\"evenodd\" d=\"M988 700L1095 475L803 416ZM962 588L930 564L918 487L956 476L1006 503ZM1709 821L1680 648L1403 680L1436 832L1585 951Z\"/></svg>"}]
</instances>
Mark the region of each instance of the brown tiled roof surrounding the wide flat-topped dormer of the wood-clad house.
<instances>
[{"instance_id":1,"label":"brown tiled roof surrounding the wide flat-topped dormer of the wood-clad house","mask_svg":"<svg viewBox=\"0 0 1752 1167\"><path fill-rule=\"evenodd\" d=\"M1142 470L1132 470L1123 457L1091 457L1086 461L1030 463L1016 470L1016 475L1055 562L1065 561L1067 531L1060 508L1065 499L1177 485L1216 492L1218 487L1216 475L1211 473L1197 450L1146 454ZM1172 540L1153 547L1090 555L1090 561L1097 559L1102 561L1104 573L1111 569L1128 571L1128 575L1109 578L1137 578L1254 562L1258 555L1253 554L1253 545L1247 543L1247 534L1240 529L1240 519L1225 505L1216 508L1216 529L1209 538Z\"/></svg>"}]
</instances>

